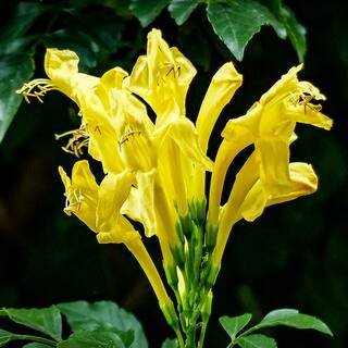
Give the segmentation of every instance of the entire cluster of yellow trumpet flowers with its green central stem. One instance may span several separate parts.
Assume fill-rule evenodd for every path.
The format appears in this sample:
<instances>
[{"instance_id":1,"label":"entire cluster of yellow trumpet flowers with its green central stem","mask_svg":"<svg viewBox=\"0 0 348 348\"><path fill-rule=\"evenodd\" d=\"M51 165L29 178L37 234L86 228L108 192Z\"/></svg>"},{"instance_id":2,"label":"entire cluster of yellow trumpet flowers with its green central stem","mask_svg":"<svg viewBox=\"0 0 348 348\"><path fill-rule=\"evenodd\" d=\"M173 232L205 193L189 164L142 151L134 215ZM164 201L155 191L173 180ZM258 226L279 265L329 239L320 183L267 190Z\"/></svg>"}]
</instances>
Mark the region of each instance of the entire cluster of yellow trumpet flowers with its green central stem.
<instances>
[{"instance_id":1,"label":"entire cluster of yellow trumpet flowers with its green central stem","mask_svg":"<svg viewBox=\"0 0 348 348\"><path fill-rule=\"evenodd\" d=\"M212 129L243 77L232 63L224 64L192 123L185 101L196 70L177 48L169 47L160 30L149 33L147 53L130 74L121 67L100 78L83 74L74 52L48 49L49 78L35 79L18 91L27 100L42 101L47 91L59 90L78 105L82 124L72 132L66 149L79 157L88 147L104 177L98 184L87 160L75 163L71 177L60 167L64 211L82 220L99 243L123 243L136 257L181 347L196 347L197 340L202 346L211 288L233 225L316 189L311 165L290 162L289 146L297 123L330 129L332 120L316 102L325 97L312 84L298 80L301 69L290 69L244 116L227 122L213 161L207 157ZM251 154L222 204L224 183L231 181L227 170L249 147ZM211 181L206 187L208 172ZM142 232L130 221L142 224L146 237L158 237L176 308L142 243Z\"/></svg>"}]
</instances>

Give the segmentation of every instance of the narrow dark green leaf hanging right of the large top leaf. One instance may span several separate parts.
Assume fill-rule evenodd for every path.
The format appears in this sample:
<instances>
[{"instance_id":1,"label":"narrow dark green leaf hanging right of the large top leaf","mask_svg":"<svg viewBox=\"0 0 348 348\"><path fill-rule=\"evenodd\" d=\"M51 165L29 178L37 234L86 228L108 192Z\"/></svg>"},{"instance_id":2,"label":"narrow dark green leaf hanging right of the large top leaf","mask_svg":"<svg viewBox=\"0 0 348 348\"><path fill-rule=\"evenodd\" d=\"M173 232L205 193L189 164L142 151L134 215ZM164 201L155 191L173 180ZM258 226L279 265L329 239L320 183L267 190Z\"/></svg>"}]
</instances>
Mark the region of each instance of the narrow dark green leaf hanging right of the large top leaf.
<instances>
[{"instance_id":1,"label":"narrow dark green leaf hanging right of the large top leaf","mask_svg":"<svg viewBox=\"0 0 348 348\"><path fill-rule=\"evenodd\" d=\"M288 37L297 52L298 59L300 62L303 62L307 50L306 28L297 22L294 12L288 8L282 9L282 17Z\"/></svg>"}]
</instances>

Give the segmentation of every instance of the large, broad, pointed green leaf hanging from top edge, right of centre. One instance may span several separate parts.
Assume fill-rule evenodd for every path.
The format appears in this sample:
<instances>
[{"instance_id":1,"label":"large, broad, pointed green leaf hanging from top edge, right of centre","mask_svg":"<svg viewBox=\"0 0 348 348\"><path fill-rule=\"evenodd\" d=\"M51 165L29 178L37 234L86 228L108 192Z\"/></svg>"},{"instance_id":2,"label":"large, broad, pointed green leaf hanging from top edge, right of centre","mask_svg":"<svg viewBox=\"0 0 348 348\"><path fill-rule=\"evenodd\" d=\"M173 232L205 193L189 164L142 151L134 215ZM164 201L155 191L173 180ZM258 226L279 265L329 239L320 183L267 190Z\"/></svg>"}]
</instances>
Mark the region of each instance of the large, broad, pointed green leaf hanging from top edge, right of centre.
<instances>
[{"instance_id":1,"label":"large, broad, pointed green leaf hanging from top edge, right of centre","mask_svg":"<svg viewBox=\"0 0 348 348\"><path fill-rule=\"evenodd\" d=\"M271 25L281 38L286 37L283 24L268 8L254 0L211 1L207 12L215 34L239 61L243 60L247 44L260 32L261 26Z\"/></svg>"}]
</instances>

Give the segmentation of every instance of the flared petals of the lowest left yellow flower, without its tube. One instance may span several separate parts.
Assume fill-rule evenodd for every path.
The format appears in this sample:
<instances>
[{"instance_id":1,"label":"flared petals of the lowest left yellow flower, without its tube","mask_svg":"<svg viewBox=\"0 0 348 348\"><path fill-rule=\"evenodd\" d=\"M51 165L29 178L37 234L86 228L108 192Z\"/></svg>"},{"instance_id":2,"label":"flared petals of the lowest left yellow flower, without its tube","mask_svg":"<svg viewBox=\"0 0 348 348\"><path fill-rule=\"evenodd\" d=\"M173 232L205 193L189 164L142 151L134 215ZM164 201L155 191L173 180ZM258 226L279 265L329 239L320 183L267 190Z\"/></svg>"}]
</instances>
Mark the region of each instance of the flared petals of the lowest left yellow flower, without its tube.
<instances>
[{"instance_id":1,"label":"flared petals of the lowest left yellow flower, without its tube","mask_svg":"<svg viewBox=\"0 0 348 348\"><path fill-rule=\"evenodd\" d=\"M140 237L120 214L134 181L132 173L108 174L100 186L86 160L74 164L72 178L61 166L59 173L65 186L64 212L69 215L73 213L83 221L97 234L100 243L127 243Z\"/></svg>"}]
</instances>

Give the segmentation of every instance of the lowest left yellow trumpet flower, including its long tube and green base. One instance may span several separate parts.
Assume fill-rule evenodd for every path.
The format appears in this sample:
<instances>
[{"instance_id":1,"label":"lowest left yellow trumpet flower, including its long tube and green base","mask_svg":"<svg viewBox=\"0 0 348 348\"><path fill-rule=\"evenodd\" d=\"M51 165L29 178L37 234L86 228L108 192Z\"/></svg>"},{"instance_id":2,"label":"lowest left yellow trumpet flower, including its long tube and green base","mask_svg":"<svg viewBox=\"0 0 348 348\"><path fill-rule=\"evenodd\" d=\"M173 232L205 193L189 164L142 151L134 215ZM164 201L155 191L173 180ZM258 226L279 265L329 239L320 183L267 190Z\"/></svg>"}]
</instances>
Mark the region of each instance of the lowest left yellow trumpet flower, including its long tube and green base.
<instances>
[{"instance_id":1,"label":"lowest left yellow trumpet flower, including its long tube and green base","mask_svg":"<svg viewBox=\"0 0 348 348\"><path fill-rule=\"evenodd\" d=\"M148 254L140 235L121 213L121 206L129 194L134 175L129 172L108 174L100 186L95 181L87 161L74 164L72 178L62 167L59 173L65 186L67 214L75 214L97 234L99 243L123 243L138 260L158 297L169 322L175 321L173 302Z\"/></svg>"}]
</instances>

